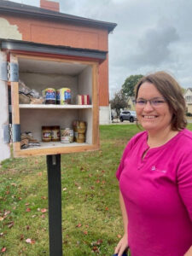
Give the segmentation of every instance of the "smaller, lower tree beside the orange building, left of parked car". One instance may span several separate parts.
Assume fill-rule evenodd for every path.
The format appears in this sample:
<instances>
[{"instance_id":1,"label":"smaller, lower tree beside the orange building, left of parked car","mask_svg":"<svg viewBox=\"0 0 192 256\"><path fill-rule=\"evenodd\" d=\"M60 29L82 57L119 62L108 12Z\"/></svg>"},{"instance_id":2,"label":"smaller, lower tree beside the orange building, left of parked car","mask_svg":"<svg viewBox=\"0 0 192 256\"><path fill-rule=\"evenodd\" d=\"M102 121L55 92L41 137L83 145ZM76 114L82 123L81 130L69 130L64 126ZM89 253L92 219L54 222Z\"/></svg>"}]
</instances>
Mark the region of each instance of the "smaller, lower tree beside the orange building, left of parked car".
<instances>
[{"instance_id":1,"label":"smaller, lower tree beside the orange building, left of parked car","mask_svg":"<svg viewBox=\"0 0 192 256\"><path fill-rule=\"evenodd\" d=\"M127 97L123 93L122 90L119 90L114 94L113 99L110 101L111 103L111 108L115 109L117 113L117 117L119 118L120 115L120 109L124 109L127 107Z\"/></svg>"}]
</instances>

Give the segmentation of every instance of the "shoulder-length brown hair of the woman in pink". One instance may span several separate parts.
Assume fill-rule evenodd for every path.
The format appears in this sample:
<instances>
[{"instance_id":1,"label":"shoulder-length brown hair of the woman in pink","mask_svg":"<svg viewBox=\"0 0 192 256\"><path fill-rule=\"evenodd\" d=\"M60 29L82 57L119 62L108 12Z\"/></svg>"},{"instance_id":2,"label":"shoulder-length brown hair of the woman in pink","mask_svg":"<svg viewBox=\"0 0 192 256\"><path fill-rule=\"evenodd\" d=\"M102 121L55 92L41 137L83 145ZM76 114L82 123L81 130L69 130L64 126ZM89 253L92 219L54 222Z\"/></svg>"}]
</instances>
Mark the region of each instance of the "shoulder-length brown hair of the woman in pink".
<instances>
[{"instance_id":1,"label":"shoulder-length brown hair of the woman in pink","mask_svg":"<svg viewBox=\"0 0 192 256\"><path fill-rule=\"evenodd\" d=\"M154 84L160 94L166 99L172 112L172 130L181 131L187 125L185 118L186 105L180 85L166 72L148 74L140 79L135 87L136 99L141 85L145 82Z\"/></svg>"}]
</instances>

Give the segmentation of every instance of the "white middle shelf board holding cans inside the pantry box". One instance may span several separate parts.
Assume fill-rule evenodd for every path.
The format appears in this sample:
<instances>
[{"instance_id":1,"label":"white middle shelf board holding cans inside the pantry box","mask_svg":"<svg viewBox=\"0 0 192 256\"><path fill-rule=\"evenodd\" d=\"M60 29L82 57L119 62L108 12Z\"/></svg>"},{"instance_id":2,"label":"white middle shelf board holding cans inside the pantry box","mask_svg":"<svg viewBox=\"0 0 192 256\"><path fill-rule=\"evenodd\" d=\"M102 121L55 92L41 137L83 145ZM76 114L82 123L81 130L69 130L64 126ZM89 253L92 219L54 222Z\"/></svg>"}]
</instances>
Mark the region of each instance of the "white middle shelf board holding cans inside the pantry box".
<instances>
[{"instance_id":1,"label":"white middle shelf board holding cans inside the pantry box","mask_svg":"<svg viewBox=\"0 0 192 256\"><path fill-rule=\"evenodd\" d=\"M33 109L84 109L93 108L92 105L56 105L56 104L20 104L19 108L33 108Z\"/></svg>"}]
</instances>

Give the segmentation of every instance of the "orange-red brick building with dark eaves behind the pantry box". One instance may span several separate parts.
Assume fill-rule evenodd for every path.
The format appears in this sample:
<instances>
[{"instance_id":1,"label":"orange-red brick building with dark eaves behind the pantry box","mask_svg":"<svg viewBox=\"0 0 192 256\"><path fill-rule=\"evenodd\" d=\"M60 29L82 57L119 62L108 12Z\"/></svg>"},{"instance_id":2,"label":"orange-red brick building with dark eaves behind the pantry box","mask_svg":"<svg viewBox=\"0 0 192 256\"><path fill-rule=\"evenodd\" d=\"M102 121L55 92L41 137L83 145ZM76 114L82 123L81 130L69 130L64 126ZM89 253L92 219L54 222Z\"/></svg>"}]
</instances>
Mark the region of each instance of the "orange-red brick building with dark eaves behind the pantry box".
<instances>
[{"instance_id":1,"label":"orange-red brick building with dark eaves behind the pantry box","mask_svg":"<svg viewBox=\"0 0 192 256\"><path fill-rule=\"evenodd\" d=\"M87 49L88 61L89 51L96 53L96 57L106 55L101 57L98 74L100 124L109 123L108 33L115 26L111 22L60 13L59 3L54 1L40 0L38 8L0 0L0 38L65 46L79 52Z\"/></svg>"}]
</instances>

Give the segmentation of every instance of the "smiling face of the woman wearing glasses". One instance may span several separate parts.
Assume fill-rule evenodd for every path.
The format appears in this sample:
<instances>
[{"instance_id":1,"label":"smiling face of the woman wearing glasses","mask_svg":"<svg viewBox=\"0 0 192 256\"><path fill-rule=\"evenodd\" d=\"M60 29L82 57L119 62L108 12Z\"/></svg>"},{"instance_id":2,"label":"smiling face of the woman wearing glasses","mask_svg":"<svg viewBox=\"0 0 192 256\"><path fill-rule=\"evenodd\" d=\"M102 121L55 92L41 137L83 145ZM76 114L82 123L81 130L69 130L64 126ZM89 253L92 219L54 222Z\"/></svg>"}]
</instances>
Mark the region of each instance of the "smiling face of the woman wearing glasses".
<instances>
[{"instance_id":1,"label":"smiling face of the woman wearing glasses","mask_svg":"<svg viewBox=\"0 0 192 256\"><path fill-rule=\"evenodd\" d=\"M162 131L166 128L171 130L172 113L168 103L154 84L144 82L140 86L136 112L137 119L145 130Z\"/></svg>"}]
</instances>

